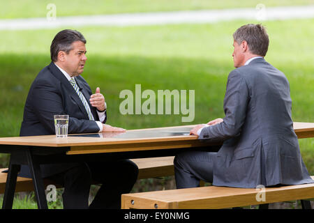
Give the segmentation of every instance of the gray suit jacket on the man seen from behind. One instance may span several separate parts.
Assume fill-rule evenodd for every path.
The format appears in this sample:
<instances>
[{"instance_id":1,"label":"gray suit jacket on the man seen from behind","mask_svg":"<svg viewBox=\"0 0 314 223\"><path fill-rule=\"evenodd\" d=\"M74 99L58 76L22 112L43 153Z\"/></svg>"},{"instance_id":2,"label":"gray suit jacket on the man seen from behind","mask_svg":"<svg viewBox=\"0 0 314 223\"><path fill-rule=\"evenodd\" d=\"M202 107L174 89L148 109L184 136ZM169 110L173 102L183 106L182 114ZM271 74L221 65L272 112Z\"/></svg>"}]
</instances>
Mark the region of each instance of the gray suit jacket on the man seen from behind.
<instances>
[{"instance_id":1,"label":"gray suit jacket on the man seen from behind","mask_svg":"<svg viewBox=\"0 0 314 223\"><path fill-rule=\"evenodd\" d=\"M264 59L230 72L225 118L199 139L224 140L214 162L213 185L256 187L314 181L302 160L291 116L290 86Z\"/></svg>"}]
</instances>

